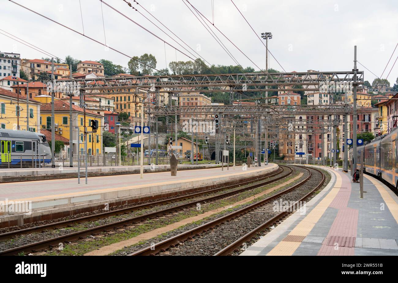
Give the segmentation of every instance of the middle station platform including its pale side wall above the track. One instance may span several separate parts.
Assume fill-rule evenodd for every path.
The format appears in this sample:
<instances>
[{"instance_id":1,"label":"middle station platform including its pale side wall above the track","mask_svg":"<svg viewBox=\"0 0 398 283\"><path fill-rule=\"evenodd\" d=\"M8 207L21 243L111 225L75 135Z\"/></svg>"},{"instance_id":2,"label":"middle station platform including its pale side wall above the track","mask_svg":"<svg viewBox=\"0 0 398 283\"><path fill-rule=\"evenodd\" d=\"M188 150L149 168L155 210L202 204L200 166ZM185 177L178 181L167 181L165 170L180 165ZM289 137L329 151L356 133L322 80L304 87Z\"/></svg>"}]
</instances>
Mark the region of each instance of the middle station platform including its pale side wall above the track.
<instances>
[{"instance_id":1,"label":"middle station platform including its pale side wall above the track","mask_svg":"<svg viewBox=\"0 0 398 283\"><path fill-rule=\"evenodd\" d=\"M178 165L180 169L181 165ZM255 180L258 176L279 168L276 164L261 167L230 166L168 172L95 176L77 178L0 183L0 202L29 202L31 213L0 212L0 227L54 219L156 198L174 196L228 186L242 180ZM5 211L0 207L0 211ZM16 224L17 223L17 224Z\"/></svg>"}]
</instances>

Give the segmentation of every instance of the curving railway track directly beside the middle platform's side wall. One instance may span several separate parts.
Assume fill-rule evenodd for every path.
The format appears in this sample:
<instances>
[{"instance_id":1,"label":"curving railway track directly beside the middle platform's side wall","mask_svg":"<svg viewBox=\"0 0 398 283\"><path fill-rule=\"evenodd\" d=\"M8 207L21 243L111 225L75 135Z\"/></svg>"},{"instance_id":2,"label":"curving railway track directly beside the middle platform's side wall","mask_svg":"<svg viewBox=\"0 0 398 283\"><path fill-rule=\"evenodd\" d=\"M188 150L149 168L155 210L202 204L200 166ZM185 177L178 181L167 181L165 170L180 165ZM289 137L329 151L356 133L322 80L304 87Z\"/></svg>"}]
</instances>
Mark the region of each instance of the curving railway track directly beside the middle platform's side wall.
<instances>
[{"instance_id":1,"label":"curving railway track directly beside the middle platform's side wall","mask_svg":"<svg viewBox=\"0 0 398 283\"><path fill-rule=\"evenodd\" d=\"M169 198L166 200L150 202L147 204L135 205L133 207L125 207L122 209L106 211L106 212L98 213L95 215L87 215L87 216L76 218L76 219L69 219L69 220L65 220L65 221L49 223L46 225L40 225L40 226L36 226L36 227L30 227L30 228L26 228L26 229L3 233L3 234L0 234L0 240L8 240L10 238L15 238L16 236L20 236L20 235L26 235L26 234L32 234L32 233L43 233L45 231L62 229L64 227L72 227L73 225L81 224L81 223L88 222L88 221L97 221L98 219L104 219L104 218L112 217L115 215L117 216L117 215L125 215L125 214L129 214L129 213L133 213L134 211L137 211L139 209L145 209L148 207L152 208L156 205L169 204L169 203L172 204L174 202L189 200L191 198L197 198L197 197L200 197L203 195L206 196L205 198L201 198L200 200L195 199L195 200L187 202L187 203L173 205L171 207L166 207L165 209L160 209L158 211L152 211L152 212L145 213L142 215L128 217L128 218L120 220L120 221L107 223L105 225L100 225L100 226L84 229L82 231L76 231L76 232L68 233L65 235L60 235L57 237L52 237L49 239L41 240L39 242L33 242L30 244L25 244L22 246L17 246L14 248L2 250L2 251L0 251L0 255L15 255L15 254L21 254L21 253L29 253L31 251L38 251L38 250L46 249L49 247L58 246L59 243L64 243L64 242L67 243L67 242L77 240L79 238L81 239L81 238L84 238L84 237L87 237L90 235L94 236L98 233L112 231L115 229L119 229L121 227L126 227L127 225L144 222L147 219L161 217L164 215L168 215L169 213L181 211L182 209L187 208L187 207L193 207L198 202L210 202L210 201L218 200L220 198L226 198L228 196L238 194L239 192L243 192L245 190L250 190L250 189L253 189L253 188L256 188L259 186L264 186L264 185L270 184L272 182L276 182L277 180L280 180L282 178L289 176L293 172L293 169L291 169L290 167L286 167L286 166L280 166L280 167L282 168L282 170L278 170L277 172L272 173L272 174L267 174L267 176L263 176L257 180L245 181L245 182L242 182L239 184L233 184L230 186L224 186L221 188L215 188L212 190L207 190L207 191L189 194L189 195L185 195L185 196L178 196L178 197ZM278 175L280 175L280 176L278 176ZM275 178L273 178L273 177L275 177ZM272 178L272 179L269 180L269 178ZM251 183L254 183L254 184L251 184ZM231 190L233 188L236 188L236 190ZM229 190L229 191L223 192L221 194L217 194L218 192L224 191L224 190Z\"/></svg>"}]
</instances>

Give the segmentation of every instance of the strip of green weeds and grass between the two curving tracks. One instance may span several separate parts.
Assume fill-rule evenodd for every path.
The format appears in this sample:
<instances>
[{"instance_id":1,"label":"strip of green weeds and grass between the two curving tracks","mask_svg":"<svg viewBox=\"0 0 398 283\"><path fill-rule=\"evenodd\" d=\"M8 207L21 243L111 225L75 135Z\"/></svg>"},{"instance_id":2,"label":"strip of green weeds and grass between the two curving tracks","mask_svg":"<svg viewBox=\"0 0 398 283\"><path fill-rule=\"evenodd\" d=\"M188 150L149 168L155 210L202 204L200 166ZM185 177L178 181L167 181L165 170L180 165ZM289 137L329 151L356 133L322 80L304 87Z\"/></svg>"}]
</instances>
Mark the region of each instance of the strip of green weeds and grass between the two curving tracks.
<instances>
[{"instance_id":1,"label":"strip of green weeds and grass between the two curving tracks","mask_svg":"<svg viewBox=\"0 0 398 283\"><path fill-rule=\"evenodd\" d=\"M79 240L78 242L73 242L71 244L67 244L67 245L64 246L63 250L54 249L52 251L47 252L46 254L47 255L69 255L69 256L70 255L83 255L83 254L85 254L87 252L90 252L92 250L96 250L96 249L101 248L103 246L114 244L114 243L117 243L117 242L120 242L120 241L123 241L123 240L127 240L129 238L134 238L134 237L139 236L139 235L141 235L143 233L146 233L146 232L152 231L154 229L170 225L172 223L179 222L179 221L181 221L183 219L186 219L188 217L199 215L199 214L202 214L202 213L205 213L207 211L211 211L213 209L217 209L217 208L220 208L220 207L233 205L236 202L239 202L240 200L244 200L246 198L249 198L251 196L259 194L259 193L261 193L261 192L263 192L265 190L273 188L273 187L275 187L275 186L277 186L279 184L283 184L284 182L287 182L288 180L291 180L292 178L294 178L297 175L298 175L298 173L293 173L290 176L288 176L286 178L283 178L281 180L278 180L276 182L273 182L271 184L267 184L267 185L262 186L262 187L254 188L254 189L251 189L251 190L247 190L247 191L241 192L239 194L230 196L228 198L224 198L224 199L216 200L214 202L210 202L208 204L202 204L200 211L198 211L196 209L196 207L191 207L189 209L185 209L184 211L179 211L179 212L176 212L176 213L172 213L172 214L166 215L164 217L160 217L160 218L156 218L156 219L148 219L147 221L142 222L142 223L137 223L136 225L130 225L130 226L125 227L123 229L118 229L116 231L111 231L111 232L107 233L107 235L96 235L95 238L88 237L88 238L85 238L83 240ZM300 178L299 180L295 180L294 183L300 182L300 180L302 180L302 178ZM274 191L272 191L272 192L270 192L268 194L265 194L265 195L263 195L263 196L261 196L259 198L254 199L254 200L252 200L250 202L247 202L244 205L251 204L253 202L258 202L259 200L262 200L262 199L267 198L267 197L269 197L269 196L271 196L273 194L276 194L277 192L280 192L281 190L285 190L286 188L288 188L290 186L291 186L291 184L287 184L287 185L285 185L285 186L283 186L283 187L281 187L281 188L279 188L277 190L274 190ZM209 218L214 218L215 216L217 216L219 214L225 214L226 212L230 212L233 209L238 208L240 206L242 206L242 205L236 205L234 207L229 207L226 210L223 210L223 211L221 211L219 213L215 213L215 214L213 214L213 215L211 215L209 217L203 218L203 219L201 219L199 221L195 221L195 222L192 222L192 223L194 223L196 225L201 225L201 224L205 223L206 221L208 221ZM137 212L134 213L134 215L139 215L139 214L143 214L143 213L145 213L145 210L137 211ZM130 217L131 217L131 215L130 215ZM96 224L96 222L93 222L93 223ZM189 223L187 225L192 225L192 223ZM186 225L184 225L184 226L186 226ZM177 229L181 229L184 226L179 227ZM83 229L83 228L78 225L77 227L70 227L69 229L73 229L73 230L77 231L77 229ZM164 233L162 235L158 235L154 239L162 238L162 236L165 236L166 234L167 233ZM147 242L147 240L139 242L136 245L143 244L145 242ZM116 253L117 253L117 251L114 252L113 254L116 254Z\"/></svg>"}]
</instances>

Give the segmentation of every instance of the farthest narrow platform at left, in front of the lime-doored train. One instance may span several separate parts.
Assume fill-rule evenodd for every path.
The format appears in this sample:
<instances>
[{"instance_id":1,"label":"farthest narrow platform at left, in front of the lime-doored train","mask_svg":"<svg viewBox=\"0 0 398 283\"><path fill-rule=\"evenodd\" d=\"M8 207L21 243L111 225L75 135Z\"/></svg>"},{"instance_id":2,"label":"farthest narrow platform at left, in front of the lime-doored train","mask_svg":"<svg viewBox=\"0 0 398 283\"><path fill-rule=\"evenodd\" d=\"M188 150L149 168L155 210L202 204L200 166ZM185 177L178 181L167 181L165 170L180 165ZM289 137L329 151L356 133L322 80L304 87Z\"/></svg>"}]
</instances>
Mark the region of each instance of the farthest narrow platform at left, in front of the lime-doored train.
<instances>
[{"instance_id":1,"label":"farthest narrow platform at left, in front of the lime-doored train","mask_svg":"<svg viewBox=\"0 0 398 283\"><path fill-rule=\"evenodd\" d=\"M179 170L192 168L207 168L217 167L219 164L180 164ZM170 164L148 165L144 164L144 173L170 171ZM131 166L89 166L87 167L89 176L104 176L109 174L139 174L140 165ZM42 168L1 168L0 182L18 182L23 180L49 180L55 178L70 178L76 177L78 167L42 167ZM85 167L80 167L80 174L85 174Z\"/></svg>"}]
</instances>

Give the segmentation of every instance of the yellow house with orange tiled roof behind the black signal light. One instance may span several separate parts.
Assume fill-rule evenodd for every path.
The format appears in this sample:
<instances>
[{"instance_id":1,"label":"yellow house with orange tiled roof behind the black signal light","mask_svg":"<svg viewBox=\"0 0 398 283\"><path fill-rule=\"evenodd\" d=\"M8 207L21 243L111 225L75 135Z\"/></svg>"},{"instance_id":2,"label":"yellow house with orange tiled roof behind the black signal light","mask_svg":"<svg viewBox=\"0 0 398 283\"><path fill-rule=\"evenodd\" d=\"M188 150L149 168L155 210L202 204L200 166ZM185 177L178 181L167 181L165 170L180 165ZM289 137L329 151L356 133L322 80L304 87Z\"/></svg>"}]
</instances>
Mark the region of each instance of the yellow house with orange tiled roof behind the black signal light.
<instances>
[{"instance_id":1,"label":"yellow house with orange tiled roof behind the black signal light","mask_svg":"<svg viewBox=\"0 0 398 283\"><path fill-rule=\"evenodd\" d=\"M51 103L41 106L41 128L51 130ZM69 103L63 100L54 101L55 112L55 133L69 140L70 120L69 120ZM91 131L91 120L98 120L99 129L96 133L88 134L87 152L89 155L99 155L102 153L102 130L103 130L103 116L86 109L86 120L84 120L84 110L77 105L72 105L72 127L73 127L73 152L77 152L78 148L84 151L84 127ZM79 127L80 136L77 136ZM78 141L80 145L78 147Z\"/></svg>"}]
</instances>

